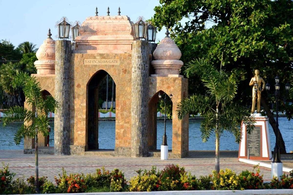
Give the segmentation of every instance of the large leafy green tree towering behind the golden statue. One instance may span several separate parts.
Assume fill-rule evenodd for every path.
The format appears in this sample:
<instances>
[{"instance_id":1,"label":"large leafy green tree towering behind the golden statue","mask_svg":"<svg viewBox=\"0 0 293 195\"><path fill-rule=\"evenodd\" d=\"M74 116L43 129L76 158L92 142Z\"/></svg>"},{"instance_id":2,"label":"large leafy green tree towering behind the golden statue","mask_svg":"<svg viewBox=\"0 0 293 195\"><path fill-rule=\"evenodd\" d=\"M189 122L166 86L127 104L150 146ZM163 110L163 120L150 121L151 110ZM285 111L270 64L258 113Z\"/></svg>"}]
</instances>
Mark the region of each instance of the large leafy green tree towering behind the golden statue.
<instances>
[{"instance_id":1,"label":"large leafy green tree towering behind the golden statue","mask_svg":"<svg viewBox=\"0 0 293 195\"><path fill-rule=\"evenodd\" d=\"M271 85L277 74L283 85L293 83L292 0L160 0L160 3L154 8L152 22L159 29L170 28L171 37L182 52L181 60L186 64L194 58L205 58L219 68L223 54L222 68L239 80L236 100L242 105L251 105L248 83L254 69L259 69ZM190 94L204 94L205 90L198 76L189 78ZM281 94L285 97L285 90ZM275 107L271 111L270 103L274 105L274 101L273 95L263 92L264 114L268 115L275 134L279 133L281 152L286 152L273 118ZM292 118L292 105L282 102L280 108Z\"/></svg>"}]
</instances>

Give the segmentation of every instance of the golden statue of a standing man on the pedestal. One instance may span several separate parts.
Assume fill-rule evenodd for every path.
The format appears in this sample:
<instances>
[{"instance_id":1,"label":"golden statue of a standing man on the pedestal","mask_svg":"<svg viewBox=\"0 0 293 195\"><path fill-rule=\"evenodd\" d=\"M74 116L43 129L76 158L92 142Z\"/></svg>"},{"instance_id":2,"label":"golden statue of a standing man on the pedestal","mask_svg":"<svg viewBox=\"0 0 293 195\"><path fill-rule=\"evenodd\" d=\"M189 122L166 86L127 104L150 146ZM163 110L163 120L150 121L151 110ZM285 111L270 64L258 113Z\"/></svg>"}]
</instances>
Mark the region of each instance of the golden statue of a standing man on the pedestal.
<instances>
[{"instance_id":1,"label":"golden statue of a standing man on the pedestal","mask_svg":"<svg viewBox=\"0 0 293 195\"><path fill-rule=\"evenodd\" d=\"M251 78L249 82L249 86L252 87L252 107L251 107L251 113L254 113L255 111L255 102L257 99L257 113L260 113L260 98L261 98L261 92L265 89L265 81L262 77L259 76L259 70L254 70L254 77ZM263 86L261 84L263 83Z\"/></svg>"}]
</instances>

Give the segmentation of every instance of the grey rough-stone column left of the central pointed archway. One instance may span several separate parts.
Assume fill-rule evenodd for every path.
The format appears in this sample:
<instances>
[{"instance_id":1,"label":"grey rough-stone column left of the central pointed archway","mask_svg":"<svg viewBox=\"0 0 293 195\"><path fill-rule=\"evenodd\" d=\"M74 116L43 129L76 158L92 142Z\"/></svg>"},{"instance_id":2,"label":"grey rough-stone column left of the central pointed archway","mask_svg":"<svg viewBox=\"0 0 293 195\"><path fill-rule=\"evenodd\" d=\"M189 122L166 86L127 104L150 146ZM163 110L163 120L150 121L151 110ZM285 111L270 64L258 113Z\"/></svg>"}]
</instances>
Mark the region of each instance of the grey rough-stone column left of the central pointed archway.
<instances>
[{"instance_id":1,"label":"grey rough-stone column left of the central pointed archway","mask_svg":"<svg viewBox=\"0 0 293 195\"><path fill-rule=\"evenodd\" d=\"M55 98L60 108L54 118L54 154L70 154L69 66L71 42L57 40L55 49Z\"/></svg>"}]
</instances>

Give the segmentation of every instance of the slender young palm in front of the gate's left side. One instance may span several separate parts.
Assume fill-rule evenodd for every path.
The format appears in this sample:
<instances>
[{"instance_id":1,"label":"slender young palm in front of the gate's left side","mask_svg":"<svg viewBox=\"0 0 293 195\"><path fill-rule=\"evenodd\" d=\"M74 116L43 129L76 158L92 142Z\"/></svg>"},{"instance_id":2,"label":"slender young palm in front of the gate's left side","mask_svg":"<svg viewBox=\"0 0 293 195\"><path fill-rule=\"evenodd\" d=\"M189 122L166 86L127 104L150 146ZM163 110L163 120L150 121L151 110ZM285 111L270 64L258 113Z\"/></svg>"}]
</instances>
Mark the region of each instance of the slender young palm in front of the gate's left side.
<instances>
[{"instance_id":1,"label":"slender young palm in front of the gate's left side","mask_svg":"<svg viewBox=\"0 0 293 195\"><path fill-rule=\"evenodd\" d=\"M35 112L21 106L13 106L5 113L2 122L4 127L9 122L24 122L14 135L16 145L20 144L23 138L35 138L35 187L39 193L38 133L42 133L44 137L49 134L47 113L54 112L56 108L59 108L59 103L52 96L43 97L40 83L35 77L30 77L28 73L17 73L12 85L15 89L18 87L23 89L26 102L35 108Z\"/></svg>"}]
</instances>

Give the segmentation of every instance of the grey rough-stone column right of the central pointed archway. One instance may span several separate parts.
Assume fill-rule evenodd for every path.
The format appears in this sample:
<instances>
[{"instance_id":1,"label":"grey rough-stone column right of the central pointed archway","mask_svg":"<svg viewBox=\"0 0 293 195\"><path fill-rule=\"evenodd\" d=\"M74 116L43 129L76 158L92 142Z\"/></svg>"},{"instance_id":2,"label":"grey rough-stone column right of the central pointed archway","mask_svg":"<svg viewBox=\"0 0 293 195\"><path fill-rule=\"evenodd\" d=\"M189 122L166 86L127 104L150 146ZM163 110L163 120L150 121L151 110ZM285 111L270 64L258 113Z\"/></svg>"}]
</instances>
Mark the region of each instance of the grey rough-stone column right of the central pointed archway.
<instances>
[{"instance_id":1,"label":"grey rough-stone column right of the central pointed archway","mask_svg":"<svg viewBox=\"0 0 293 195\"><path fill-rule=\"evenodd\" d=\"M131 156L147 156L149 43L132 44Z\"/></svg>"}]
</instances>

